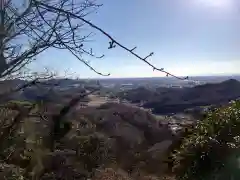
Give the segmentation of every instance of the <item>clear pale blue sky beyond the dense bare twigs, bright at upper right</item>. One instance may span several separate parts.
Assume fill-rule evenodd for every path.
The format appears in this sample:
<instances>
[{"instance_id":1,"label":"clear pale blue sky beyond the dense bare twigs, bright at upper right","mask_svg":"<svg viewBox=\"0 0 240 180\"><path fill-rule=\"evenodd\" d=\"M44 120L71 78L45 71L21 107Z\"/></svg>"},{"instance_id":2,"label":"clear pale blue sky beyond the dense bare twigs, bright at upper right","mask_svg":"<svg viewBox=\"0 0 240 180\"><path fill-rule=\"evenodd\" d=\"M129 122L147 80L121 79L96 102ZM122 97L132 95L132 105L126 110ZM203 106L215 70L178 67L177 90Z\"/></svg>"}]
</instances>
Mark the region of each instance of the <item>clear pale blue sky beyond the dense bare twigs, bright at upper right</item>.
<instances>
[{"instance_id":1,"label":"clear pale blue sky beyond the dense bare twigs, bright at upper right","mask_svg":"<svg viewBox=\"0 0 240 180\"><path fill-rule=\"evenodd\" d=\"M97 0L97 13L86 19L101 27L117 41L133 48L157 67L179 75L240 74L239 0ZM96 32L91 47L102 59L91 65L110 77L156 77L141 60L116 47L108 49L108 39ZM41 54L31 68L44 67L80 78L101 78L66 51Z\"/></svg>"}]
</instances>

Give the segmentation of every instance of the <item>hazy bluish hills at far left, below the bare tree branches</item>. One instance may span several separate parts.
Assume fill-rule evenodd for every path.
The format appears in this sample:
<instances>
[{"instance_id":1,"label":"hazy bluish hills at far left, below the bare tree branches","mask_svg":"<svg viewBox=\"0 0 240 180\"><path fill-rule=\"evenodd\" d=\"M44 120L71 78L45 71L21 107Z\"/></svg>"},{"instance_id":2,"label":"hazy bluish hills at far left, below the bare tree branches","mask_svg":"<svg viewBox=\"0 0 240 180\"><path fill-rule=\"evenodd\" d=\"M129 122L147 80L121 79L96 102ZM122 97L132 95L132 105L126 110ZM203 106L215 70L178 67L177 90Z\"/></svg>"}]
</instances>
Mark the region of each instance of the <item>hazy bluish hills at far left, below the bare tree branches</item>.
<instances>
[{"instance_id":1,"label":"hazy bluish hills at far left, below the bare tree branches","mask_svg":"<svg viewBox=\"0 0 240 180\"><path fill-rule=\"evenodd\" d=\"M11 89L21 87L27 83L28 81L19 79L0 81L0 94L5 94ZM56 102L62 99L65 94L73 95L79 93L83 88L74 85L81 85L83 83L83 81L73 79L49 79L39 83L37 86L29 86L6 97L1 97L0 102L6 102L9 100L44 100L48 102Z\"/></svg>"}]
</instances>

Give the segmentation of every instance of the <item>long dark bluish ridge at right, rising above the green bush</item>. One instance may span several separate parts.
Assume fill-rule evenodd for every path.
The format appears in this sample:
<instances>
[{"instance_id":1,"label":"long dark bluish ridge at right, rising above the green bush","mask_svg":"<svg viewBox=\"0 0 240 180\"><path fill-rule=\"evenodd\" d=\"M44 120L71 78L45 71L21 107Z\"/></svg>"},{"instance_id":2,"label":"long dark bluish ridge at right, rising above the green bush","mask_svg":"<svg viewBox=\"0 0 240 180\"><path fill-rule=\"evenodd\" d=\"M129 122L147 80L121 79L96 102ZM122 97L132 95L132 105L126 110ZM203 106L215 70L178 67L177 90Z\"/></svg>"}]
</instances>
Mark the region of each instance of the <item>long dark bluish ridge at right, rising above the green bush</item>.
<instances>
[{"instance_id":1,"label":"long dark bluish ridge at right, rising above the green bush","mask_svg":"<svg viewBox=\"0 0 240 180\"><path fill-rule=\"evenodd\" d=\"M157 114L183 112L185 109L220 105L240 97L240 82L229 79L218 84L205 84L193 88L158 88L150 91L144 88L119 94L121 98L135 102L144 101L145 108Z\"/></svg>"}]
</instances>

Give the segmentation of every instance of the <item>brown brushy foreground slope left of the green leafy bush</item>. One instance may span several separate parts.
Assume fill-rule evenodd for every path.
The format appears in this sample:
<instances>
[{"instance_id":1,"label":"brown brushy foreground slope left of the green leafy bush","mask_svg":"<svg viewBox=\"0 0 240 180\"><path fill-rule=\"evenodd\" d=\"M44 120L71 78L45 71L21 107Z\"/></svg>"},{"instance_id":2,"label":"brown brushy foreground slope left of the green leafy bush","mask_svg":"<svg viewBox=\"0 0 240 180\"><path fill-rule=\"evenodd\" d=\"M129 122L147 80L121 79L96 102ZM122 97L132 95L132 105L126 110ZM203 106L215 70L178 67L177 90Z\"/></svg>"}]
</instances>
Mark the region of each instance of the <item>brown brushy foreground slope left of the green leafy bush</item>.
<instances>
[{"instance_id":1,"label":"brown brushy foreground slope left of the green leafy bush","mask_svg":"<svg viewBox=\"0 0 240 180\"><path fill-rule=\"evenodd\" d=\"M9 108L20 108L29 107L31 103L16 101L9 105ZM99 169L107 167L116 167L128 176L139 179L136 174L139 170L145 175L160 175L166 168L161 168L164 163L163 159L159 159L159 155L167 153L176 135L150 113L115 103L73 110L65 118L65 121L71 124L71 130L57 143L56 152L49 154L52 116L61 107L62 105L53 103L37 106L22 121L15 124L15 131L11 132L13 142L8 144L8 139L5 138L2 148L6 151L2 151L0 157L8 159L7 163L13 165L11 169L20 168L20 172L16 173L22 175L23 170L27 170L26 164L34 161L35 156L40 159L47 158L41 161L44 168L50 168L41 179L54 179L54 176L65 174L63 179L86 180ZM3 117L5 109L2 110ZM38 113L41 113L41 116ZM16 119L9 118L2 118L2 131L9 126L5 123L11 124ZM11 151L12 148L14 151ZM55 164L54 169L51 169L49 164L51 161ZM38 168L41 172L42 167ZM6 171L1 170L4 173Z\"/></svg>"}]
</instances>

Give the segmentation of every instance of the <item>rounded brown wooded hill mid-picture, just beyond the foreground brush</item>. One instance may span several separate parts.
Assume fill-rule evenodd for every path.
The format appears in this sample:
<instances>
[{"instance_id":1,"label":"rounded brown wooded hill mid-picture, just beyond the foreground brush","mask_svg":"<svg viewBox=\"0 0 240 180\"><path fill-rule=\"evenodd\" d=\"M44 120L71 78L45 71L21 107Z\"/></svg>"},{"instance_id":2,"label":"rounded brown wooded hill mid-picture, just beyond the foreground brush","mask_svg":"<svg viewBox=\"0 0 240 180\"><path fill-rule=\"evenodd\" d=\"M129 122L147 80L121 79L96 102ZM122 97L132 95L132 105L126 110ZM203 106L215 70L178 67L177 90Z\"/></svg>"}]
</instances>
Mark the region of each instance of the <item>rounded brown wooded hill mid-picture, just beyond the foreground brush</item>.
<instances>
[{"instance_id":1,"label":"rounded brown wooded hill mid-picture, just beyond the foreground brush","mask_svg":"<svg viewBox=\"0 0 240 180\"><path fill-rule=\"evenodd\" d=\"M112 137L121 137L133 144L155 144L172 139L171 130L158 122L149 112L123 104L106 103L97 108L85 108L80 112L92 119L99 131Z\"/></svg>"}]
</instances>

